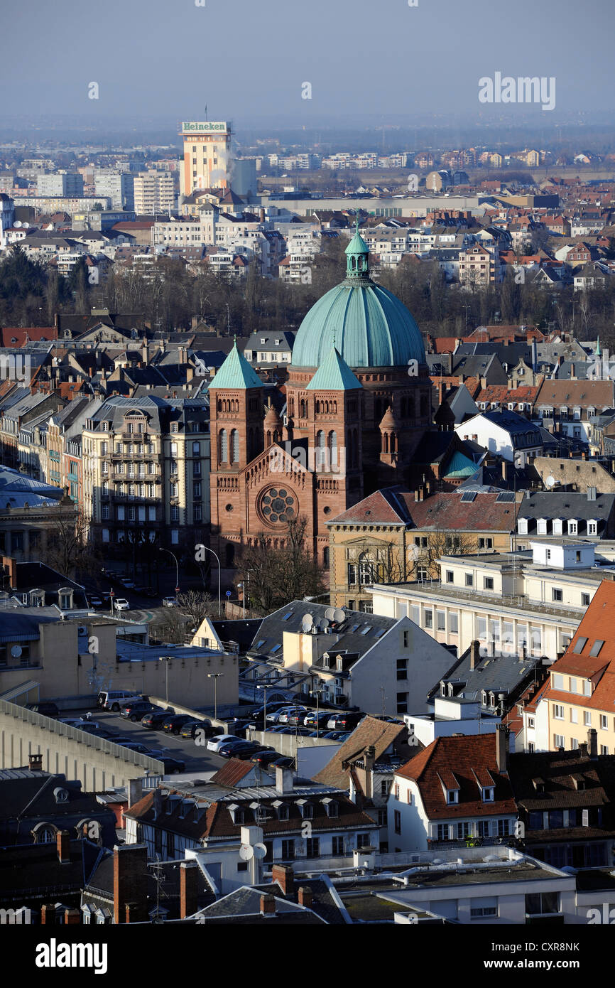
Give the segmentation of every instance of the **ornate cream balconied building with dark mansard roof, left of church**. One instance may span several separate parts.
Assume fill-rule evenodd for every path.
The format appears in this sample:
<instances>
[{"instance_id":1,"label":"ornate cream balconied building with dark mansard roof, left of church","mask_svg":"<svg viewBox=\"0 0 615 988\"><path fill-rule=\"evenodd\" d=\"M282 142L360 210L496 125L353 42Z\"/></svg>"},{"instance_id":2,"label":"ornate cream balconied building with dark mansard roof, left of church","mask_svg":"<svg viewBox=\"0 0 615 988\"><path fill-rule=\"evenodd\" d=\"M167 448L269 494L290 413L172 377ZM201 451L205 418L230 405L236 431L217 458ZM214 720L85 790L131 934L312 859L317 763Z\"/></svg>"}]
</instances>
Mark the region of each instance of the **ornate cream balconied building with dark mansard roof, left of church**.
<instances>
[{"instance_id":1,"label":"ornate cream balconied building with dark mansard roof, left of church","mask_svg":"<svg viewBox=\"0 0 615 988\"><path fill-rule=\"evenodd\" d=\"M83 489L96 540L138 534L186 547L202 540L209 523L206 399L105 402L83 431Z\"/></svg>"}]
</instances>

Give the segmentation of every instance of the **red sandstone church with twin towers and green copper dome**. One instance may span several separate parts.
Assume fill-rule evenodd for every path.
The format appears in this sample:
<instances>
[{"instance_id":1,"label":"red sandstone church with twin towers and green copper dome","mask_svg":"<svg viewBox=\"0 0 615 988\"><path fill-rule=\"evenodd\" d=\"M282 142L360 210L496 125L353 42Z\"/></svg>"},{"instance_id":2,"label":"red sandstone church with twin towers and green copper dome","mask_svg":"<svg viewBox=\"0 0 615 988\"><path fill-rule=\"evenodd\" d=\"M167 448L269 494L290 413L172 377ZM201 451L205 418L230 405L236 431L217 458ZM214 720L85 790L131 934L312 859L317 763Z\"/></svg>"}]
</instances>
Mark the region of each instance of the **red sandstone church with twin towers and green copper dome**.
<instances>
[{"instance_id":1,"label":"red sandstone church with twin towers and green copper dome","mask_svg":"<svg viewBox=\"0 0 615 988\"><path fill-rule=\"evenodd\" d=\"M371 280L368 253L357 227L345 280L297 331L280 413L265 407L264 385L236 345L209 384L211 547L223 567L256 535L283 541L299 517L328 567L327 521L410 482L431 427L423 339L406 306Z\"/></svg>"}]
</instances>

